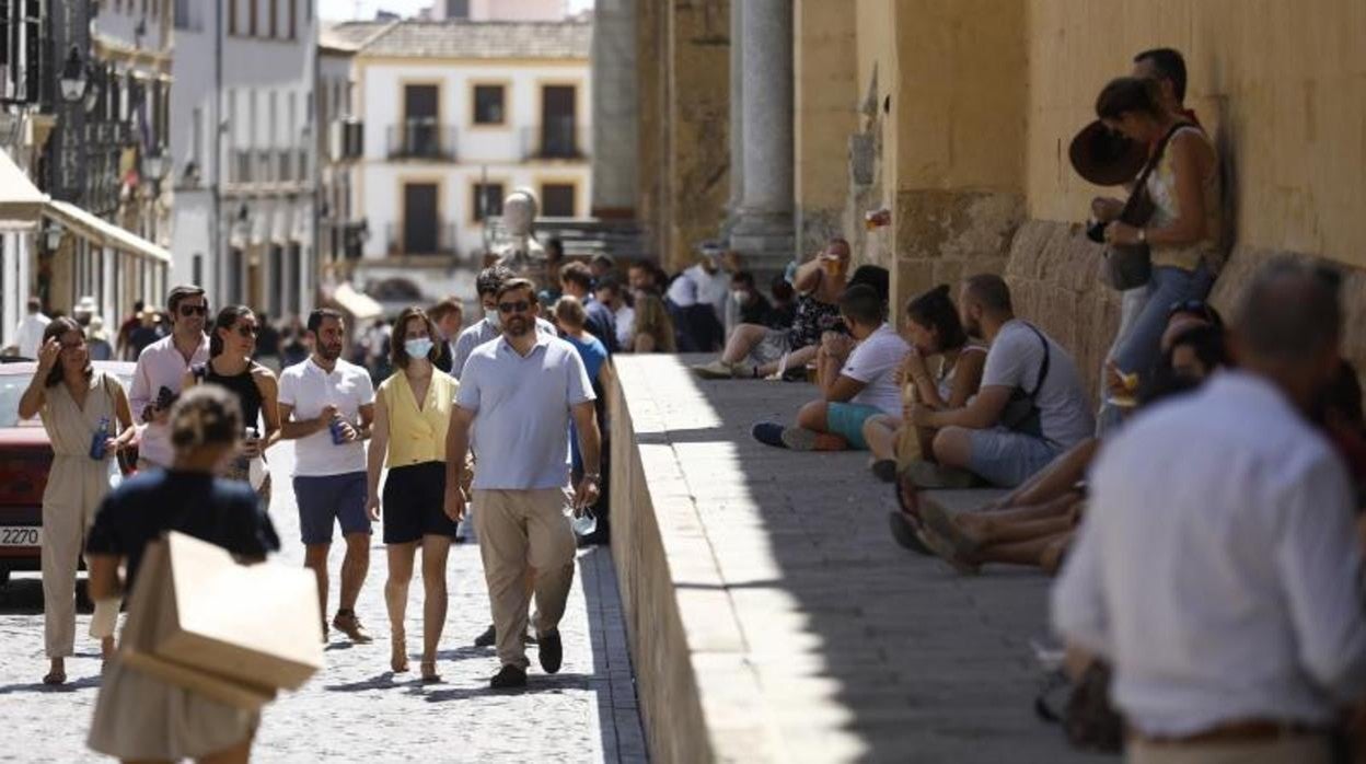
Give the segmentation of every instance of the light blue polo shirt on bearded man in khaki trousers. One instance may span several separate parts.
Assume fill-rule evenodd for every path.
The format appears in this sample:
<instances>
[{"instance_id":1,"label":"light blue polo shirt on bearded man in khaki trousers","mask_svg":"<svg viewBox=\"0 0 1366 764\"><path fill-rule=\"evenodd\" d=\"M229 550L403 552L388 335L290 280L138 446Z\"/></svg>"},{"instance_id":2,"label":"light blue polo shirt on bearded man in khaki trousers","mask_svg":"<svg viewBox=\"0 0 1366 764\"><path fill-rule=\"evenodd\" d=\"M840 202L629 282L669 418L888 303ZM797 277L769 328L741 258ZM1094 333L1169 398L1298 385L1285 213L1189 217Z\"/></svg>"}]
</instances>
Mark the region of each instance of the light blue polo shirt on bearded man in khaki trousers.
<instances>
[{"instance_id":1,"label":"light blue polo shirt on bearded man in khaki trousers","mask_svg":"<svg viewBox=\"0 0 1366 764\"><path fill-rule=\"evenodd\" d=\"M455 394L474 413L474 489L564 487L570 409L594 398L583 359L560 338L537 332L526 357L507 338L475 347Z\"/></svg>"}]
</instances>

